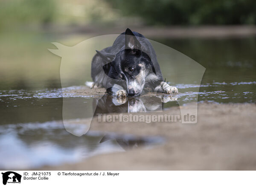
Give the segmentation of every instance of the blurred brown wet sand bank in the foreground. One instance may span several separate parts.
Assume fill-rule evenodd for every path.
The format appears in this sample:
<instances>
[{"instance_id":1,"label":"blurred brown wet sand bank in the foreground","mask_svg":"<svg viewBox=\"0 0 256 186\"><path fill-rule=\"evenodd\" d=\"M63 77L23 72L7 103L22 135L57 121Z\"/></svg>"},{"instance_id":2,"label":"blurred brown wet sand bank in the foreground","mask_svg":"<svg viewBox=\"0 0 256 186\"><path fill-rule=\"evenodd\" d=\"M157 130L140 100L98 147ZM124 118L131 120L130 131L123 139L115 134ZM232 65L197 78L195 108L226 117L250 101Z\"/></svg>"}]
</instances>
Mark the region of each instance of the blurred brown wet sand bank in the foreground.
<instances>
[{"instance_id":1,"label":"blurred brown wet sand bank in the foreground","mask_svg":"<svg viewBox=\"0 0 256 186\"><path fill-rule=\"evenodd\" d=\"M72 90L96 96L104 89ZM189 109L189 106L183 106ZM180 114L179 107L163 113ZM97 122L90 130L164 137L163 145L101 154L41 170L256 170L256 104L198 104L197 124Z\"/></svg>"}]
</instances>

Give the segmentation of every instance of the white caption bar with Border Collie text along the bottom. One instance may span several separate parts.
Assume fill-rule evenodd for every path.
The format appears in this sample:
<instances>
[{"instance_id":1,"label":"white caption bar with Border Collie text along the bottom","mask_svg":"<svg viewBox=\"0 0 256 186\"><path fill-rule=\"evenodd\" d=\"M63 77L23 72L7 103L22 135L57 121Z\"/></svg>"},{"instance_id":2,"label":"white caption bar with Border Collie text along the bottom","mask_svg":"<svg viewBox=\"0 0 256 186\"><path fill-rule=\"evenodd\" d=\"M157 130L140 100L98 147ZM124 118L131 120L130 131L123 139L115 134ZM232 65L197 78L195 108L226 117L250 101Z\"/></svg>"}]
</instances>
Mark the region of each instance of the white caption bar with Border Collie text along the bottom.
<instances>
[{"instance_id":1,"label":"white caption bar with Border Collie text along the bottom","mask_svg":"<svg viewBox=\"0 0 256 186\"><path fill-rule=\"evenodd\" d=\"M3 182L4 173L1 176ZM256 171L14 171L21 175L19 186L45 185L256 185ZM8 173L7 173L8 174ZM10 174L13 176L14 174ZM6 185L14 185L8 179ZM18 180L16 179L16 182ZM2 183L1 183L2 184Z\"/></svg>"}]
</instances>

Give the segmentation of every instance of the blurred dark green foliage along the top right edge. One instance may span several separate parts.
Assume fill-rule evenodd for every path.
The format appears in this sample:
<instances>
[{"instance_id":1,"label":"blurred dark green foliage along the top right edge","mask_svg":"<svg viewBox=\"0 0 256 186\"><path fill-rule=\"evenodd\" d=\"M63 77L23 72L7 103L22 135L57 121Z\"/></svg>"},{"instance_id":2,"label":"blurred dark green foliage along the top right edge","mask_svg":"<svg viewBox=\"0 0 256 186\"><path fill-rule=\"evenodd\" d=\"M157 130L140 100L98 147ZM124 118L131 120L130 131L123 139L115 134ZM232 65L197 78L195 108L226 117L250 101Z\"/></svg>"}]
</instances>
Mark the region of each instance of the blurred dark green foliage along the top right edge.
<instances>
[{"instance_id":1,"label":"blurred dark green foliage along the top right edge","mask_svg":"<svg viewBox=\"0 0 256 186\"><path fill-rule=\"evenodd\" d=\"M106 0L148 24L255 24L256 0Z\"/></svg>"}]
</instances>

